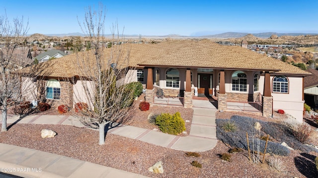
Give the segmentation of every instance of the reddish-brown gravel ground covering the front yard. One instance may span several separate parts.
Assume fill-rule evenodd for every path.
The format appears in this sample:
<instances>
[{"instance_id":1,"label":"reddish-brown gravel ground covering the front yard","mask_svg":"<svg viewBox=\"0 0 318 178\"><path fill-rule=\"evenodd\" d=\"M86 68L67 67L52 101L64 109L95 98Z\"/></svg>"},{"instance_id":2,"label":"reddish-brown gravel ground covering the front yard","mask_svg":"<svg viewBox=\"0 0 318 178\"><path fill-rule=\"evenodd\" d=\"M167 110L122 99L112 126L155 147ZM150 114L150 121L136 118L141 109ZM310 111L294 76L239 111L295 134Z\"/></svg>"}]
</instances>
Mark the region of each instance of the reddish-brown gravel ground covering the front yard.
<instances>
[{"instance_id":1,"label":"reddish-brown gravel ground covering the front yard","mask_svg":"<svg viewBox=\"0 0 318 178\"><path fill-rule=\"evenodd\" d=\"M139 98L136 102L140 102L140 100L142 98ZM148 129L158 129L158 126L150 124L147 118L150 113L160 114L162 112L170 114L180 112L182 118L190 120L190 123L193 114L192 109L153 106L146 112L137 111L130 124ZM57 112L52 110L45 114L57 115ZM273 119L241 112L216 113L218 119L230 119L233 115L247 116L264 121L277 121L285 117L277 113ZM190 124L187 123L189 122L186 122L188 134ZM317 125L313 124L312 127L316 129ZM42 129L52 129L58 134L54 138L42 139L40 133ZM313 144L317 143L317 138L317 133L315 133L312 139ZM218 141L214 149L199 152L200 157L187 157L186 152L183 151L163 148L113 134L107 134L105 145L100 146L98 145L98 131L91 129L77 128L70 125L17 123L10 127L7 132L0 133L0 142L72 157L153 178L314 178L318 176L314 163L314 159L318 156L317 152L306 153L291 150L289 156L267 154L265 160L269 161L275 157L283 162L285 169L278 172L268 166L267 162L259 165L250 162L247 151L231 153L230 162L220 159L221 154L227 153L232 148L221 141ZM164 173L149 172L148 168L158 161L162 162ZM192 166L192 161L201 163L202 168Z\"/></svg>"}]
</instances>

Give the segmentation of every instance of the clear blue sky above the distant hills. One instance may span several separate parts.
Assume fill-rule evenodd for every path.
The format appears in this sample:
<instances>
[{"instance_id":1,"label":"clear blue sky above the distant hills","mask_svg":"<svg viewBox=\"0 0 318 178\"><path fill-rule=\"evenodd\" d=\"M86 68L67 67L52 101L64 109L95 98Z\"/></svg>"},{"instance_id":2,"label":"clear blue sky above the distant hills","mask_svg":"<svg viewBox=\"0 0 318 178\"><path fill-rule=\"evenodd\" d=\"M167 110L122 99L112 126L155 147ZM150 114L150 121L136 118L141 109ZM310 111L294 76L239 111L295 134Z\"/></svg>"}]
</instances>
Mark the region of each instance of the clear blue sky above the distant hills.
<instances>
[{"instance_id":1,"label":"clear blue sky above the distant hills","mask_svg":"<svg viewBox=\"0 0 318 178\"><path fill-rule=\"evenodd\" d=\"M105 34L318 33L318 0L0 0L0 15L29 19L28 34L81 32L85 7L106 6Z\"/></svg>"}]
</instances>

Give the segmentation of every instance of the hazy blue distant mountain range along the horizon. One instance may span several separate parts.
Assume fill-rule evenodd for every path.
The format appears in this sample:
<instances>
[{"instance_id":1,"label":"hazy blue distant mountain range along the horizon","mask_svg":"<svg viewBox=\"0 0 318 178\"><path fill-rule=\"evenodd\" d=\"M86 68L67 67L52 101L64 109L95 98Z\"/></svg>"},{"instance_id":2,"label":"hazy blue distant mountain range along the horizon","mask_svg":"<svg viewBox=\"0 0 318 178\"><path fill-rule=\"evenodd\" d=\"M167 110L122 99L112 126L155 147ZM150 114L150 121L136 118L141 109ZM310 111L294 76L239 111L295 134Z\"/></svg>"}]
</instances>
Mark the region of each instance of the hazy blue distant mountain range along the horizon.
<instances>
[{"instance_id":1,"label":"hazy blue distant mountain range along the horizon","mask_svg":"<svg viewBox=\"0 0 318 178\"><path fill-rule=\"evenodd\" d=\"M170 35L142 35L142 37L158 37L158 38L241 38L250 33L238 33L238 32L226 32L216 35L204 35L204 36L181 36L176 34L170 34ZM45 36L56 36L56 37L65 37L65 36L85 36L82 33L66 33L66 34L44 34ZM252 33L253 36L258 38L269 38L271 35L277 35L278 37L281 36L301 36L301 35L318 35L318 33L276 33L276 32L266 32L266 33ZM106 34L105 36L111 37L111 34ZM121 35L120 35L121 36ZM125 37L130 38L138 38L139 35L124 35Z\"/></svg>"}]
</instances>

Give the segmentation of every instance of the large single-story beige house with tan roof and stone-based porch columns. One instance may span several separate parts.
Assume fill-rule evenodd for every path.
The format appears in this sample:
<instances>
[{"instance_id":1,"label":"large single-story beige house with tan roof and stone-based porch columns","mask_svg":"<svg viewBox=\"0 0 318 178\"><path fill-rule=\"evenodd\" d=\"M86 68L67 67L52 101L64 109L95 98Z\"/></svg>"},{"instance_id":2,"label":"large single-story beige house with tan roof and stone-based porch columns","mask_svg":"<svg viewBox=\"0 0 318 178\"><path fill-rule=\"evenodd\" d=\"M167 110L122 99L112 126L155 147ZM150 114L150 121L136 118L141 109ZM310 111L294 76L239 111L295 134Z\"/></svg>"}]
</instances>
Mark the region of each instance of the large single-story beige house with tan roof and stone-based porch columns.
<instances>
[{"instance_id":1,"label":"large single-story beige house with tan roof and stone-based porch columns","mask_svg":"<svg viewBox=\"0 0 318 178\"><path fill-rule=\"evenodd\" d=\"M278 109L303 120L304 77L310 72L239 46L222 46L210 40L167 40L158 44L125 44L130 70L118 82L140 81L146 101L192 107L197 94L213 96L218 110L261 112L272 117ZM109 56L110 49L104 50ZM46 99L68 101L82 93L79 69L72 54L50 61ZM106 59L105 59L106 60ZM64 78L72 78L68 82ZM157 97L162 90L164 97ZM36 91L35 91L36 92ZM26 94L24 94L26 95Z\"/></svg>"}]
</instances>

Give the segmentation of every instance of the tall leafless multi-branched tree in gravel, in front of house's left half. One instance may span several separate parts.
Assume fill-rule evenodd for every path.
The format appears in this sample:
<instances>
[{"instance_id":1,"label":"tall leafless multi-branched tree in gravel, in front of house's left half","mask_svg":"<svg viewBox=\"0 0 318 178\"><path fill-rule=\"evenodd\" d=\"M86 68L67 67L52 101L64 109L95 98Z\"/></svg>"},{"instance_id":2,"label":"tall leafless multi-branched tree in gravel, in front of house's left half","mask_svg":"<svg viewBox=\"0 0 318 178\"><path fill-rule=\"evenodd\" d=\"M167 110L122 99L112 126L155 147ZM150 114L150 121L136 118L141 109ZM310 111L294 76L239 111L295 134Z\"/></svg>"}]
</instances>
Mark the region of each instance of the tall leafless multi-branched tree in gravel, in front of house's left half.
<instances>
[{"instance_id":1,"label":"tall leafless multi-branched tree in gravel, in front of house's left half","mask_svg":"<svg viewBox=\"0 0 318 178\"><path fill-rule=\"evenodd\" d=\"M74 90L74 103L88 104L88 108L82 109L78 117L84 124L99 128L99 144L102 145L105 143L105 126L107 129L108 125L123 123L134 113L132 103L135 86L128 88L123 78L129 66L129 51L124 45L114 45L106 49L105 13L102 4L99 4L97 11L88 7L83 23L79 25L89 37L91 50L77 53L77 82L81 85ZM118 27L113 27L114 36Z\"/></svg>"}]
</instances>

